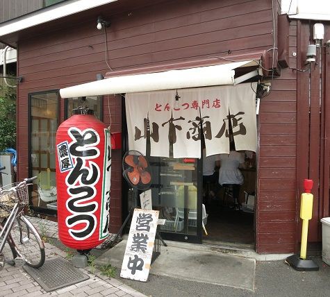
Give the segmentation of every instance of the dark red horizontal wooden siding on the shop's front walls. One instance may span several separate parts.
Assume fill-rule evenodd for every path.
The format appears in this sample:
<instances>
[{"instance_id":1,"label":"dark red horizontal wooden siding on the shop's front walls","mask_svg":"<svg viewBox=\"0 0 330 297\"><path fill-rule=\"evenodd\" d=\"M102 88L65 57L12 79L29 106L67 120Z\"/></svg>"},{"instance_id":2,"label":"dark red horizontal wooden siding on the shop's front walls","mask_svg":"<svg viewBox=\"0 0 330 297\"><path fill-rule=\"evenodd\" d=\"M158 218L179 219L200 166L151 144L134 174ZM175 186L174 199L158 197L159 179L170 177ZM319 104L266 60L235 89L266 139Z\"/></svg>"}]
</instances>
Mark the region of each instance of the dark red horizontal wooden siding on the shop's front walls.
<instances>
[{"instance_id":1,"label":"dark red horizontal wooden siding on the shop's front walls","mask_svg":"<svg viewBox=\"0 0 330 297\"><path fill-rule=\"evenodd\" d=\"M28 93L85 83L108 71L104 35L96 28L99 14L111 21L107 46L114 70L215 56L230 58L230 53L270 49L273 42L271 0L118 1L22 33L18 74L24 82L19 84L17 105L19 178L28 172ZM297 51L296 32L296 22L291 22L292 51ZM296 60L290 57L291 67L296 67ZM281 78L272 81L272 92L261 101L256 226L259 253L292 252L295 245L296 79L295 72L282 69ZM119 131L121 101L113 96L109 100L112 130ZM63 120L63 101L61 108ZM105 97L104 119L109 123L107 113ZM122 222L121 158L120 151L113 151L113 231Z\"/></svg>"}]
</instances>

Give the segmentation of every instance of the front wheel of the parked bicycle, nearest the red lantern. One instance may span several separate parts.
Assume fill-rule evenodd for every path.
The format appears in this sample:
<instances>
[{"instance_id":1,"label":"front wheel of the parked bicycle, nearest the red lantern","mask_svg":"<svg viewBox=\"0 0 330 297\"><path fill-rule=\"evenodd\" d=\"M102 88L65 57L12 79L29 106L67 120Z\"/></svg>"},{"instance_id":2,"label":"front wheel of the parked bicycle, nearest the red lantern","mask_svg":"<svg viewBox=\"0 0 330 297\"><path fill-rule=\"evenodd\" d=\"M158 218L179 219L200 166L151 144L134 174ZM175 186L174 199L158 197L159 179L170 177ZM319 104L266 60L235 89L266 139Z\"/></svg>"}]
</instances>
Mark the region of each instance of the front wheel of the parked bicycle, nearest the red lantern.
<instances>
[{"instance_id":1,"label":"front wheel of the parked bicycle, nearest the red lantern","mask_svg":"<svg viewBox=\"0 0 330 297\"><path fill-rule=\"evenodd\" d=\"M45 253L44 243L35 229L26 217L18 217L10 231L16 250L28 266L39 268L44 264Z\"/></svg>"}]
</instances>

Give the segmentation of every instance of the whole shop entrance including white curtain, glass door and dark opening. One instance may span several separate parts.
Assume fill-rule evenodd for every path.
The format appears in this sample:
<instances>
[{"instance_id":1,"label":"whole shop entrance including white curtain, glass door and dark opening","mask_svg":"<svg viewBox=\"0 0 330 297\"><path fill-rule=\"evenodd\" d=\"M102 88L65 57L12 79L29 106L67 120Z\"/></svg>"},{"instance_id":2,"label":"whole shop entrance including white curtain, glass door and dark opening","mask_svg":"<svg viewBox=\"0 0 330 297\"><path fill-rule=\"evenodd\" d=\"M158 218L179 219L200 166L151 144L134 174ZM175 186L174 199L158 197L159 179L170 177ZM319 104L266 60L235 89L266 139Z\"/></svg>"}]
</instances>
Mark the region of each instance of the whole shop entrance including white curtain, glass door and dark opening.
<instances>
[{"instance_id":1,"label":"whole shop entrance including white curtain, glass door and dark opening","mask_svg":"<svg viewBox=\"0 0 330 297\"><path fill-rule=\"evenodd\" d=\"M256 83L125 95L127 147L149 162L152 208L165 219L159 227L164 239L254 248L254 90ZM230 136L243 155L241 186L204 184L201 148L208 156L229 155Z\"/></svg>"}]
</instances>

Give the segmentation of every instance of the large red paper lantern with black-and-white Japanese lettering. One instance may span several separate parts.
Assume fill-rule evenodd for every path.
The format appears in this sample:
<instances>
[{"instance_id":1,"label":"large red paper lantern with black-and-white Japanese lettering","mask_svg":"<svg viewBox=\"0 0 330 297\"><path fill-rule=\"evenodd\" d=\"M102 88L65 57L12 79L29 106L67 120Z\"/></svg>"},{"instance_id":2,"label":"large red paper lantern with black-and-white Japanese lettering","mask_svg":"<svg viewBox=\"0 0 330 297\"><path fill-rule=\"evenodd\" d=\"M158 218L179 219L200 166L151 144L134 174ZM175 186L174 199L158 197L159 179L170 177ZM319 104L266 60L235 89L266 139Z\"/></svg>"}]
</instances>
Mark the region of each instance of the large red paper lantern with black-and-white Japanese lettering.
<instances>
[{"instance_id":1,"label":"large red paper lantern with black-and-white Japanese lettering","mask_svg":"<svg viewBox=\"0 0 330 297\"><path fill-rule=\"evenodd\" d=\"M60 241L78 250L108 236L110 131L92 110L77 109L56 133L56 186Z\"/></svg>"}]
</instances>

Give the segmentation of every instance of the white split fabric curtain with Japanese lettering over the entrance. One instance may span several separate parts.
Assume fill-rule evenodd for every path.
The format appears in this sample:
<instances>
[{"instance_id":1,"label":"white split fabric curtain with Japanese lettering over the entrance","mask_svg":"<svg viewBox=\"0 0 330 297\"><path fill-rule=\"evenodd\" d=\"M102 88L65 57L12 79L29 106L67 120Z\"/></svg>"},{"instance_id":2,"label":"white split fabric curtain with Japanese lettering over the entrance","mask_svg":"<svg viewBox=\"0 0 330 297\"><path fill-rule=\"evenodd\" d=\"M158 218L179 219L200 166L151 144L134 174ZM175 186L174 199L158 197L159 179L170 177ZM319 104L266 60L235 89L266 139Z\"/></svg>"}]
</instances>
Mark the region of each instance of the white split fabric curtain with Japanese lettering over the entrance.
<instances>
[{"instance_id":1,"label":"white split fabric curtain with Japanese lettering over the entrance","mask_svg":"<svg viewBox=\"0 0 330 297\"><path fill-rule=\"evenodd\" d=\"M149 116L151 155L201 158L229 153L229 121L236 151L256 151L256 83L126 94L129 148L146 153Z\"/></svg>"}]
</instances>

